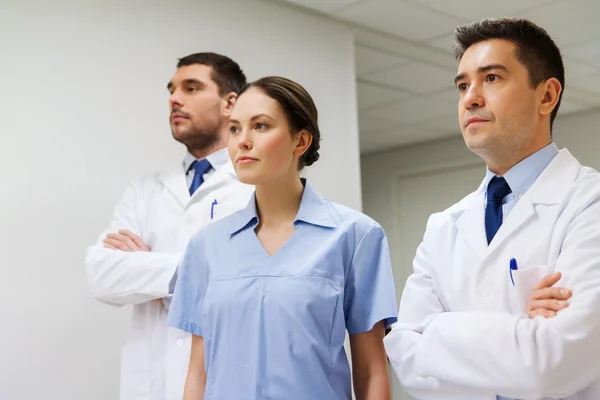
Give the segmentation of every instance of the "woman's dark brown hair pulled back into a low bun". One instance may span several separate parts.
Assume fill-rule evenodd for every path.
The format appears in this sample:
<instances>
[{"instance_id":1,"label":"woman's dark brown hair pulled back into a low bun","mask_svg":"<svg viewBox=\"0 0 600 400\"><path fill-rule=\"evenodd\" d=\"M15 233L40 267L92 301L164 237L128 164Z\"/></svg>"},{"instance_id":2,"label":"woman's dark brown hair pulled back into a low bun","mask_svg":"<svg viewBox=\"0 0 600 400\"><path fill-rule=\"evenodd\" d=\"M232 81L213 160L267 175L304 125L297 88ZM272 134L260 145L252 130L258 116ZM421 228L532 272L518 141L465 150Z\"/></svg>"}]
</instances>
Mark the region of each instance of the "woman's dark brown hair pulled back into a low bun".
<instances>
[{"instance_id":1,"label":"woman's dark brown hair pulled back into a low bun","mask_svg":"<svg viewBox=\"0 0 600 400\"><path fill-rule=\"evenodd\" d=\"M310 94L300 84L279 76L267 76L246 85L240 95L250 88L258 88L277 101L285 114L292 133L306 130L312 135L312 142L298 161L298 169L308 167L319 159L321 132L319 115Z\"/></svg>"}]
</instances>

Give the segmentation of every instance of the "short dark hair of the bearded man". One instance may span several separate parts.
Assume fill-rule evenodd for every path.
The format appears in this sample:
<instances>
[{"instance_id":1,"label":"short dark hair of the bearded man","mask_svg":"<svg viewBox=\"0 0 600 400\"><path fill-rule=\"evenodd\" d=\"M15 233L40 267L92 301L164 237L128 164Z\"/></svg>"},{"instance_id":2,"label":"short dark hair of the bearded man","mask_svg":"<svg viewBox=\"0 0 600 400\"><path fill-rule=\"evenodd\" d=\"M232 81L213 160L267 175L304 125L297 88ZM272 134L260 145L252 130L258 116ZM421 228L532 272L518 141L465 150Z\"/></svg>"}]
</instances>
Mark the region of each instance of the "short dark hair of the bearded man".
<instances>
[{"instance_id":1,"label":"short dark hair of the bearded man","mask_svg":"<svg viewBox=\"0 0 600 400\"><path fill-rule=\"evenodd\" d=\"M210 52L190 54L179 59L177 68L193 64L212 67L212 78L221 96L231 92L238 94L246 84L246 75L240 66L227 56Z\"/></svg>"}]
</instances>

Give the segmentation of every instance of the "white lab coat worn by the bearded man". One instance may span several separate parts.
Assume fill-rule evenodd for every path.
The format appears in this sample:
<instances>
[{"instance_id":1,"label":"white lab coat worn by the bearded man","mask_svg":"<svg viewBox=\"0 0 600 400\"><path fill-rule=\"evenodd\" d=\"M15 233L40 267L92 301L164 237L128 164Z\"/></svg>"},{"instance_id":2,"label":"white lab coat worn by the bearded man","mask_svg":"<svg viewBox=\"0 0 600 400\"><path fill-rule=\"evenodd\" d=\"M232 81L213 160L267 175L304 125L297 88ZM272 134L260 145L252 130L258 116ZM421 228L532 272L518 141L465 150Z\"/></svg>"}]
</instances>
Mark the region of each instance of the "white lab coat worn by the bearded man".
<instances>
[{"instance_id":1,"label":"white lab coat worn by the bearded man","mask_svg":"<svg viewBox=\"0 0 600 400\"><path fill-rule=\"evenodd\" d=\"M191 237L211 222L211 208L214 220L223 218L245 207L252 191L237 180L228 162L190 198L178 163L172 171L132 182L109 228L88 249L86 269L93 296L116 306L134 306L122 349L121 400L181 400L191 337L167 327L167 310L157 299L169 296L177 264ZM103 248L102 239L118 229L138 234L151 252Z\"/></svg>"}]
</instances>

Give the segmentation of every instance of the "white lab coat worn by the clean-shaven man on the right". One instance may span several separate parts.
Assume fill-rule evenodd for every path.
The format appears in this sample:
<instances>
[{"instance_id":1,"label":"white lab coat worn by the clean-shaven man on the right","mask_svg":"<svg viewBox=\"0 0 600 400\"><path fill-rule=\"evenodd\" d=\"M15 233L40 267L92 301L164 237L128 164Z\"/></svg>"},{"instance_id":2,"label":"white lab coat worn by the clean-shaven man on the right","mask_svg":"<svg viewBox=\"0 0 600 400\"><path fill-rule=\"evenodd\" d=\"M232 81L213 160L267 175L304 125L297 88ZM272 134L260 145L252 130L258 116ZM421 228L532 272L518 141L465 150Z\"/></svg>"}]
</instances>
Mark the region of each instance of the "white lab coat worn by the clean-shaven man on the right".
<instances>
[{"instance_id":1,"label":"white lab coat worn by the clean-shaven man on the right","mask_svg":"<svg viewBox=\"0 0 600 400\"><path fill-rule=\"evenodd\" d=\"M484 196L428 221L385 339L400 382L420 400L599 400L600 174L561 150L489 247ZM529 319L531 288L554 271L570 306Z\"/></svg>"}]
</instances>

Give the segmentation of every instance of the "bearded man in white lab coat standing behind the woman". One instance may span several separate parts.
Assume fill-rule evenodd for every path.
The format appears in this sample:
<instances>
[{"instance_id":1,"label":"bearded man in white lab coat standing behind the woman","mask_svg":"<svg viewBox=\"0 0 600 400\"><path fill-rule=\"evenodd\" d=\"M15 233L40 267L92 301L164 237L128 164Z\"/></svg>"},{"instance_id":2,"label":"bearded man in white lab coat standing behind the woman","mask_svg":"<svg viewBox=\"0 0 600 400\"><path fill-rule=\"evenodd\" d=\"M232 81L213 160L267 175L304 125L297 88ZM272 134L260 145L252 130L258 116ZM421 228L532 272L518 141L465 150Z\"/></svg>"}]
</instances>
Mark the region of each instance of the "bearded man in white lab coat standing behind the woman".
<instances>
[{"instance_id":1,"label":"bearded man in white lab coat standing behind the woman","mask_svg":"<svg viewBox=\"0 0 600 400\"><path fill-rule=\"evenodd\" d=\"M167 88L173 138L187 148L185 157L169 171L131 182L108 229L87 251L94 297L133 306L121 400L183 396L190 337L167 328L169 299L189 239L250 198L252 187L237 180L226 149L229 116L245 83L228 57L197 53L179 60Z\"/></svg>"}]
</instances>

